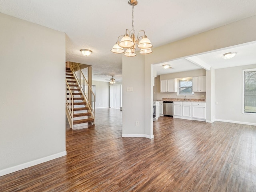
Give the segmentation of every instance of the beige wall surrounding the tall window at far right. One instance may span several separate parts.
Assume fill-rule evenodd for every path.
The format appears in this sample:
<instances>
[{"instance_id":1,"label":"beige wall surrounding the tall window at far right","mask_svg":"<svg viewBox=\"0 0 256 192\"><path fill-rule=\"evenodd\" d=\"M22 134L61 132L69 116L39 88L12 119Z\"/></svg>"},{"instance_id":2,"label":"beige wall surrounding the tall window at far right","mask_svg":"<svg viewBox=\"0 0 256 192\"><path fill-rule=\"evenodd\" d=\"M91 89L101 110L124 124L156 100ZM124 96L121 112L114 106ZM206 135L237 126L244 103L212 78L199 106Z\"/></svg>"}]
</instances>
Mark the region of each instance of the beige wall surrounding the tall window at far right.
<instances>
[{"instance_id":1,"label":"beige wall surrounding the tall window at far right","mask_svg":"<svg viewBox=\"0 0 256 192\"><path fill-rule=\"evenodd\" d=\"M216 69L216 119L256 125L255 114L242 114L242 70L256 64Z\"/></svg>"}]
</instances>

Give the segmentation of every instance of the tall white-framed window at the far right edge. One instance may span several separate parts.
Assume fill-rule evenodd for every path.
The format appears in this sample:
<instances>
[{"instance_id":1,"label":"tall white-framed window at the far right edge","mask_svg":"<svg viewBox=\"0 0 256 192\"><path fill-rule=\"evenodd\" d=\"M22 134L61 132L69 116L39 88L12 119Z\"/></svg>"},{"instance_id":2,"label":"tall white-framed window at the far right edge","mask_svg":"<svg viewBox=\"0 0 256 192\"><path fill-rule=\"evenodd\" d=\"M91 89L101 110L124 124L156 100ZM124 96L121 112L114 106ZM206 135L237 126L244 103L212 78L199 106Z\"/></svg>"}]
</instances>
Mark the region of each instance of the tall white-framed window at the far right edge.
<instances>
[{"instance_id":1,"label":"tall white-framed window at the far right edge","mask_svg":"<svg viewBox=\"0 0 256 192\"><path fill-rule=\"evenodd\" d=\"M256 69L243 70L242 112L256 114Z\"/></svg>"}]
</instances>

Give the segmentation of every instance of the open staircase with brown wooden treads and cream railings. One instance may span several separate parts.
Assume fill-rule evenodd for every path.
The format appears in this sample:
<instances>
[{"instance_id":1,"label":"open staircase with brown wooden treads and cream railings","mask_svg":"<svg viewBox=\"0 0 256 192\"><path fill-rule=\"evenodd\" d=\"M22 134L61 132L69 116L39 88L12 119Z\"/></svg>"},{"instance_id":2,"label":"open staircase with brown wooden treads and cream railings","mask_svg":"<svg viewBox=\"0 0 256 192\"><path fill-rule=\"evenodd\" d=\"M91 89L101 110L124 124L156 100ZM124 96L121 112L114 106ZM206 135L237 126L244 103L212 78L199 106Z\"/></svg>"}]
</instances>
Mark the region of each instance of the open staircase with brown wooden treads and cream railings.
<instances>
[{"instance_id":1,"label":"open staircase with brown wooden treads and cream railings","mask_svg":"<svg viewBox=\"0 0 256 192\"><path fill-rule=\"evenodd\" d=\"M88 89L88 84L80 84L79 80L81 78L75 77L76 72L74 72L74 66L72 69L73 72L70 68L66 68L66 115L68 122L71 128L73 128L75 124L94 124L94 114L92 114L94 110L92 110L92 105L89 103L91 96L88 97L85 95L88 92L88 90L85 90Z\"/></svg>"}]
</instances>

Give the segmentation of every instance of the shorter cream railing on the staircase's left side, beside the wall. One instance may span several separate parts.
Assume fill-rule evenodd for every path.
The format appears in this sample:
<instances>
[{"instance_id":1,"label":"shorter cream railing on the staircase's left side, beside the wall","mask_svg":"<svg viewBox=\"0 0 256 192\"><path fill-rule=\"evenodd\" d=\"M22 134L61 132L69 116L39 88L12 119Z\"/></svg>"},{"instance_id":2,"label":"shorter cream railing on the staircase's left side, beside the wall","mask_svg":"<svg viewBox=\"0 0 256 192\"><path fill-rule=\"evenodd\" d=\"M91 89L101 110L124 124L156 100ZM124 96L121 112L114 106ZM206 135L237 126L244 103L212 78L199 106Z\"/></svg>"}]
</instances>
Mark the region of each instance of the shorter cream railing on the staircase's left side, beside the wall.
<instances>
[{"instance_id":1,"label":"shorter cream railing on the staircase's left side, beside the wall","mask_svg":"<svg viewBox=\"0 0 256 192\"><path fill-rule=\"evenodd\" d=\"M73 129L73 94L66 80L66 111L68 112L67 118L70 127Z\"/></svg>"}]
</instances>

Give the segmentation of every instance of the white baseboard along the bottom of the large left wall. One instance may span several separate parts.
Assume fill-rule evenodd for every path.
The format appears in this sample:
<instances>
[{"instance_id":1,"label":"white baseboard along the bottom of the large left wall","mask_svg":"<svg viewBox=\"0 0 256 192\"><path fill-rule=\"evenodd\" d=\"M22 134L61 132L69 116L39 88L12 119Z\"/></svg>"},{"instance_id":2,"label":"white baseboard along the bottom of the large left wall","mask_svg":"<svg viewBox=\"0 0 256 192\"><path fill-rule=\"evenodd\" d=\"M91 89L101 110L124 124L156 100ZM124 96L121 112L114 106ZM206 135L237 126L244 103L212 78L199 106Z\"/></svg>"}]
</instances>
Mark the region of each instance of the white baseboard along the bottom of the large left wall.
<instances>
[{"instance_id":1,"label":"white baseboard along the bottom of the large left wall","mask_svg":"<svg viewBox=\"0 0 256 192\"><path fill-rule=\"evenodd\" d=\"M13 166L13 167L10 167L10 168L6 168L6 169L3 169L3 170L0 170L0 176L7 175L9 173L13 173L13 172L16 172L16 171L19 171L19 170L22 170L22 169L25 169L25 168L28 168L28 167L31 167L31 166L34 166L34 165L38 165L40 163L44 163L44 162L47 162L47 161L50 161L50 160L53 160L53 159L56 159L56 158L59 158L59 157L65 156L65 155L67 155L67 152L63 151L63 152L60 152L60 153L56 153L54 155L50 155L50 156L43 157L43 158L40 158L40 159L37 159L37 160L33 160L33 161L30 161L30 162L23 163L23 164L20 164L20 165L16 165L16 166Z\"/></svg>"}]
</instances>

